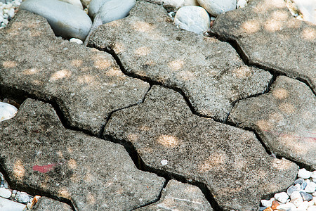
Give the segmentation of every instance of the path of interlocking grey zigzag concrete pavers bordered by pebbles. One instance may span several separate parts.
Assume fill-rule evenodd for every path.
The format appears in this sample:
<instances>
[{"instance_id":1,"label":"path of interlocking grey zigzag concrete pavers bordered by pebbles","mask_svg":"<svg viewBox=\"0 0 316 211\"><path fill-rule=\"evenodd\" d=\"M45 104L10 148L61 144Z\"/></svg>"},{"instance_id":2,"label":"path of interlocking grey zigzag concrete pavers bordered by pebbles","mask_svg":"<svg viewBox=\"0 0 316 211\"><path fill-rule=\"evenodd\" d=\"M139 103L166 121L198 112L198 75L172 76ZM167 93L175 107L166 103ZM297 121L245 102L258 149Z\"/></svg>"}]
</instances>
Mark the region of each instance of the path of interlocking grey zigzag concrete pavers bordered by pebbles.
<instances>
[{"instance_id":1,"label":"path of interlocking grey zigzag concrete pavers bordered by pebbles","mask_svg":"<svg viewBox=\"0 0 316 211\"><path fill-rule=\"evenodd\" d=\"M20 11L0 30L10 186L34 210L258 210L316 170L315 25L253 0L211 33L138 1L86 47Z\"/></svg>"}]
</instances>

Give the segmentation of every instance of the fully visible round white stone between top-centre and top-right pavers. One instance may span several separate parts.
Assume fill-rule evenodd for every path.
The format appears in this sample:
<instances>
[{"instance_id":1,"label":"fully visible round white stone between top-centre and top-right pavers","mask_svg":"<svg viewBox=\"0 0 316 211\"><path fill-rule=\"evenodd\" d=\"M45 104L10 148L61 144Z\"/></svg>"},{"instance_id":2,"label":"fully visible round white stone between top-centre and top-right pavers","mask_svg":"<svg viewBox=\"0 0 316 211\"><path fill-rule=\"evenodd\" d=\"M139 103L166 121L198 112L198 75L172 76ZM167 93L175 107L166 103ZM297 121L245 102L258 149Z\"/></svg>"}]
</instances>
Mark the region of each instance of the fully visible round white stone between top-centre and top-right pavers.
<instances>
[{"instance_id":1,"label":"fully visible round white stone between top-centre and top-right pavers","mask_svg":"<svg viewBox=\"0 0 316 211\"><path fill-rule=\"evenodd\" d=\"M209 14L200 6L183 6L174 17L174 23L181 29L197 34L202 34L209 30Z\"/></svg>"}]
</instances>

